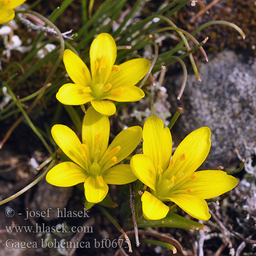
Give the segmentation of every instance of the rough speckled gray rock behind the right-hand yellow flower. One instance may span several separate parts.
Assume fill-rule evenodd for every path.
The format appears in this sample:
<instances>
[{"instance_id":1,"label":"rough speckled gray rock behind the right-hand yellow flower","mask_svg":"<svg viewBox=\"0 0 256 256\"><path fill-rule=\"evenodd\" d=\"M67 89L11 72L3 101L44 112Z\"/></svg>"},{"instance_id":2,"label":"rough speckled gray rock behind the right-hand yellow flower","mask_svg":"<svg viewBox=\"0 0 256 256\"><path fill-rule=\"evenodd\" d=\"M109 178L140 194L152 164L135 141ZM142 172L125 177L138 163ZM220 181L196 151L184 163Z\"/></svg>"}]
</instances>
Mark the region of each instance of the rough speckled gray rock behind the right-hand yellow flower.
<instances>
[{"instance_id":1,"label":"rough speckled gray rock behind the right-hand yellow flower","mask_svg":"<svg viewBox=\"0 0 256 256\"><path fill-rule=\"evenodd\" d=\"M250 145L256 140L256 59L223 51L201 65L200 76L202 82L194 74L188 75L180 103L176 97L182 77L172 77L174 88L167 92L175 92L170 96L173 111L178 105L184 108L174 135L184 138L208 126L211 150L204 166L227 167L238 162L234 148L244 156L244 142Z\"/></svg>"}]
</instances>

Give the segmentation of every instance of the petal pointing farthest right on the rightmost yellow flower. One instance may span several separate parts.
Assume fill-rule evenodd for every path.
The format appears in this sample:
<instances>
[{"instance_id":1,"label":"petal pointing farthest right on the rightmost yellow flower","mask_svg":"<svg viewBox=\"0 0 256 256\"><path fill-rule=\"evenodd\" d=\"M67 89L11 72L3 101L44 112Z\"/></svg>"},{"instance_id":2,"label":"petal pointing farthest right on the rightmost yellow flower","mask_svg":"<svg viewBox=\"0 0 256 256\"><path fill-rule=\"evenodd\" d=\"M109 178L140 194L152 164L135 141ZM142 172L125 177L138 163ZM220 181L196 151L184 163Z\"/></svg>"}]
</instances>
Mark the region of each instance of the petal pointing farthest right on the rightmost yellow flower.
<instances>
[{"instance_id":1,"label":"petal pointing farthest right on the rightmost yellow flower","mask_svg":"<svg viewBox=\"0 0 256 256\"><path fill-rule=\"evenodd\" d=\"M191 195L208 199L226 193L237 184L236 178L222 170L201 170L195 173L194 179L188 177L178 189L193 189Z\"/></svg>"}]
</instances>

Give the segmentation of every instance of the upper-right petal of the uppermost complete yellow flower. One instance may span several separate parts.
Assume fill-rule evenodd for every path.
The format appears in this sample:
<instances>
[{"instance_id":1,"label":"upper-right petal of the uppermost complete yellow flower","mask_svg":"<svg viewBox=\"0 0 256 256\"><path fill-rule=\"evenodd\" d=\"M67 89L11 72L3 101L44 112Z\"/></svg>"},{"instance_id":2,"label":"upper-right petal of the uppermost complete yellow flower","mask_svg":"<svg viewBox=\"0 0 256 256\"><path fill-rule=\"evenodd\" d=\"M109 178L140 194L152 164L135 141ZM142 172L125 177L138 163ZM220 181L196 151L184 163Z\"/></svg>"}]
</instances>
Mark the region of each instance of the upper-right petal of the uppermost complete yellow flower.
<instances>
[{"instance_id":1,"label":"upper-right petal of the uppermost complete yellow flower","mask_svg":"<svg viewBox=\"0 0 256 256\"><path fill-rule=\"evenodd\" d=\"M119 65L119 71L113 70L108 82L113 88L134 86L141 80L150 69L150 60L148 59L131 59Z\"/></svg>"}]
</instances>

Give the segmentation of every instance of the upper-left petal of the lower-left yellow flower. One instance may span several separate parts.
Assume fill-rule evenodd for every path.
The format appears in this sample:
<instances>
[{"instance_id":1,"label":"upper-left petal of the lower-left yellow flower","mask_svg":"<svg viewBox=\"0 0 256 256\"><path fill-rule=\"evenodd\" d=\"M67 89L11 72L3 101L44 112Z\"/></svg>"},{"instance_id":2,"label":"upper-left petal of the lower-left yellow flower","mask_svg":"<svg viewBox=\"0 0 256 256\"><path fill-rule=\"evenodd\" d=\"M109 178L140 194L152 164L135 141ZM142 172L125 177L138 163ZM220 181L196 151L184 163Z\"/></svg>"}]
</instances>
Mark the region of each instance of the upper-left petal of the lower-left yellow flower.
<instances>
[{"instance_id":1,"label":"upper-left petal of the lower-left yellow flower","mask_svg":"<svg viewBox=\"0 0 256 256\"><path fill-rule=\"evenodd\" d=\"M86 164L80 151L81 142L76 134L66 125L55 124L52 127L52 137L61 150L75 163L86 169Z\"/></svg>"}]
</instances>

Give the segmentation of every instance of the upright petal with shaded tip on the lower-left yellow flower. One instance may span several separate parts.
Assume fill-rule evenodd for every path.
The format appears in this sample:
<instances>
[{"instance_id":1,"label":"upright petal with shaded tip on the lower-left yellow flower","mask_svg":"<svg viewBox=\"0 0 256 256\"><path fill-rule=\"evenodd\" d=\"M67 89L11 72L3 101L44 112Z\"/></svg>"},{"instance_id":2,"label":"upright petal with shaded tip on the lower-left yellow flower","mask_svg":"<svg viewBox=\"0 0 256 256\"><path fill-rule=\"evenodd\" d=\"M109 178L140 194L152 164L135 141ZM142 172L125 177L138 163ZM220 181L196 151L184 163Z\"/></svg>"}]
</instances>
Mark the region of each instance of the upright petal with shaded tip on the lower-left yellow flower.
<instances>
[{"instance_id":1,"label":"upright petal with shaded tip on the lower-left yellow flower","mask_svg":"<svg viewBox=\"0 0 256 256\"><path fill-rule=\"evenodd\" d=\"M109 137L109 118L102 116L90 106L82 122L82 142L88 147L91 161L97 149L100 150L99 159L105 153Z\"/></svg>"}]
</instances>

